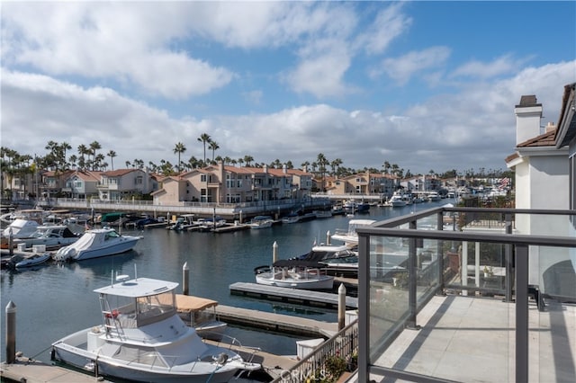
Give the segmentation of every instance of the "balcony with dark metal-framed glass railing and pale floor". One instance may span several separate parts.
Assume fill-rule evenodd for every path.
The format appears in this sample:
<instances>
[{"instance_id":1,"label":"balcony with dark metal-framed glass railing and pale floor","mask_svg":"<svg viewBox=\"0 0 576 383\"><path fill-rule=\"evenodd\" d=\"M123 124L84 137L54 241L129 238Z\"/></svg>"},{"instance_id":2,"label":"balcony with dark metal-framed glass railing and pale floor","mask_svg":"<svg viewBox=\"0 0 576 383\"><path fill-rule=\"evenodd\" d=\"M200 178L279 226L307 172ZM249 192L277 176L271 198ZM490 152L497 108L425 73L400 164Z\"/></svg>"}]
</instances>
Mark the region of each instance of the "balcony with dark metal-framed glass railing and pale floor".
<instances>
[{"instance_id":1,"label":"balcony with dark metal-framed glass railing and pale floor","mask_svg":"<svg viewBox=\"0 0 576 383\"><path fill-rule=\"evenodd\" d=\"M574 218L439 208L359 228L348 381L576 381Z\"/></svg>"}]
</instances>

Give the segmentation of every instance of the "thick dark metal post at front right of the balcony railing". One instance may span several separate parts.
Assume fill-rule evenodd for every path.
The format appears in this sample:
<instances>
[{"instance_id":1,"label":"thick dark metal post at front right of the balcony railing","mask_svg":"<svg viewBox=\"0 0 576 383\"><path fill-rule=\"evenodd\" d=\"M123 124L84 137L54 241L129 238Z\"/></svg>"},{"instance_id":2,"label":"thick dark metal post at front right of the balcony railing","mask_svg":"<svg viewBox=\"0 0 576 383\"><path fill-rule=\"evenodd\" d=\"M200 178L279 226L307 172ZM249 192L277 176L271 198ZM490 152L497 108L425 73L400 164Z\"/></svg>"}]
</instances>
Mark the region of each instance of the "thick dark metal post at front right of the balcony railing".
<instances>
[{"instance_id":1,"label":"thick dark metal post at front right of the balcony railing","mask_svg":"<svg viewBox=\"0 0 576 383\"><path fill-rule=\"evenodd\" d=\"M516 381L528 381L528 246L516 245Z\"/></svg>"}]
</instances>

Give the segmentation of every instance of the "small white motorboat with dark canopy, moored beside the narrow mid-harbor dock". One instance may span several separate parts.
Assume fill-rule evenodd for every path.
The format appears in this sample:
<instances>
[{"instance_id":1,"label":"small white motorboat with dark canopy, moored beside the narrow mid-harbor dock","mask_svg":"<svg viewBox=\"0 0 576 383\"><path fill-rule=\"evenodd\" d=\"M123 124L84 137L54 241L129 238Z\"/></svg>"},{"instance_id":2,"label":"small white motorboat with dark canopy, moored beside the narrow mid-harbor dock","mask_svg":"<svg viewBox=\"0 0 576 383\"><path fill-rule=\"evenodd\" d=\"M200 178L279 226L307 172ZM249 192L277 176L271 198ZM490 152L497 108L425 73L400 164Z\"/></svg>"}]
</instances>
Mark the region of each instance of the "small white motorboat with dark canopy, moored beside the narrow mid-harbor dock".
<instances>
[{"instance_id":1,"label":"small white motorboat with dark canopy, moored beside the narrow mid-harbor dock","mask_svg":"<svg viewBox=\"0 0 576 383\"><path fill-rule=\"evenodd\" d=\"M300 259L280 260L254 269L257 284L290 289L332 289L334 276L324 265Z\"/></svg>"}]
</instances>

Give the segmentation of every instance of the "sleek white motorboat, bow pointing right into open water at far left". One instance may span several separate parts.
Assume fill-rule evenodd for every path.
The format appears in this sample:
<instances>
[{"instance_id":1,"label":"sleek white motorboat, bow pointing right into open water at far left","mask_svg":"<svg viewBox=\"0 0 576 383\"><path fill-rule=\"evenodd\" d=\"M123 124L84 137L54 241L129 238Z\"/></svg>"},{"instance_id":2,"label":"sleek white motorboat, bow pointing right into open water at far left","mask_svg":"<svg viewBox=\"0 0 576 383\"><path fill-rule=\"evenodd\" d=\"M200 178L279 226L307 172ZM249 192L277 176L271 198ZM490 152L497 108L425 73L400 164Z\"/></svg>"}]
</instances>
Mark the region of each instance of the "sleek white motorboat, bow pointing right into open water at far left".
<instances>
[{"instance_id":1,"label":"sleek white motorboat, bow pointing right into open water at far left","mask_svg":"<svg viewBox=\"0 0 576 383\"><path fill-rule=\"evenodd\" d=\"M61 247L53 255L55 261L85 259L121 254L131 250L140 236L121 236L113 228L95 228L86 230L74 244Z\"/></svg>"}]
</instances>

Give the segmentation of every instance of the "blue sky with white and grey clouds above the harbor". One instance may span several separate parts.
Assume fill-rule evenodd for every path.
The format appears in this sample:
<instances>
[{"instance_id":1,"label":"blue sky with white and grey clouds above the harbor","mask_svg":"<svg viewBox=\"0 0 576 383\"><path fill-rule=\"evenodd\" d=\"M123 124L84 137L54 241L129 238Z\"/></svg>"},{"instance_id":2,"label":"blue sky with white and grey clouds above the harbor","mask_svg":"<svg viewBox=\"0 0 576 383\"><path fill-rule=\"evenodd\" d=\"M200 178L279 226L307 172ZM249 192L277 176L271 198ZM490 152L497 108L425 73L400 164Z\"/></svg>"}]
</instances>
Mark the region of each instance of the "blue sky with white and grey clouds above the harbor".
<instances>
[{"instance_id":1,"label":"blue sky with white and grey clouds above the harbor","mask_svg":"<svg viewBox=\"0 0 576 383\"><path fill-rule=\"evenodd\" d=\"M576 2L3 1L0 142L114 168L215 156L412 174L506 169L576 81ZM211 150L206 156L211 159ZM111 163L111 158L106 157ZM109 167L110 169L110 167Z\"/></svg>"}]
</instances>

